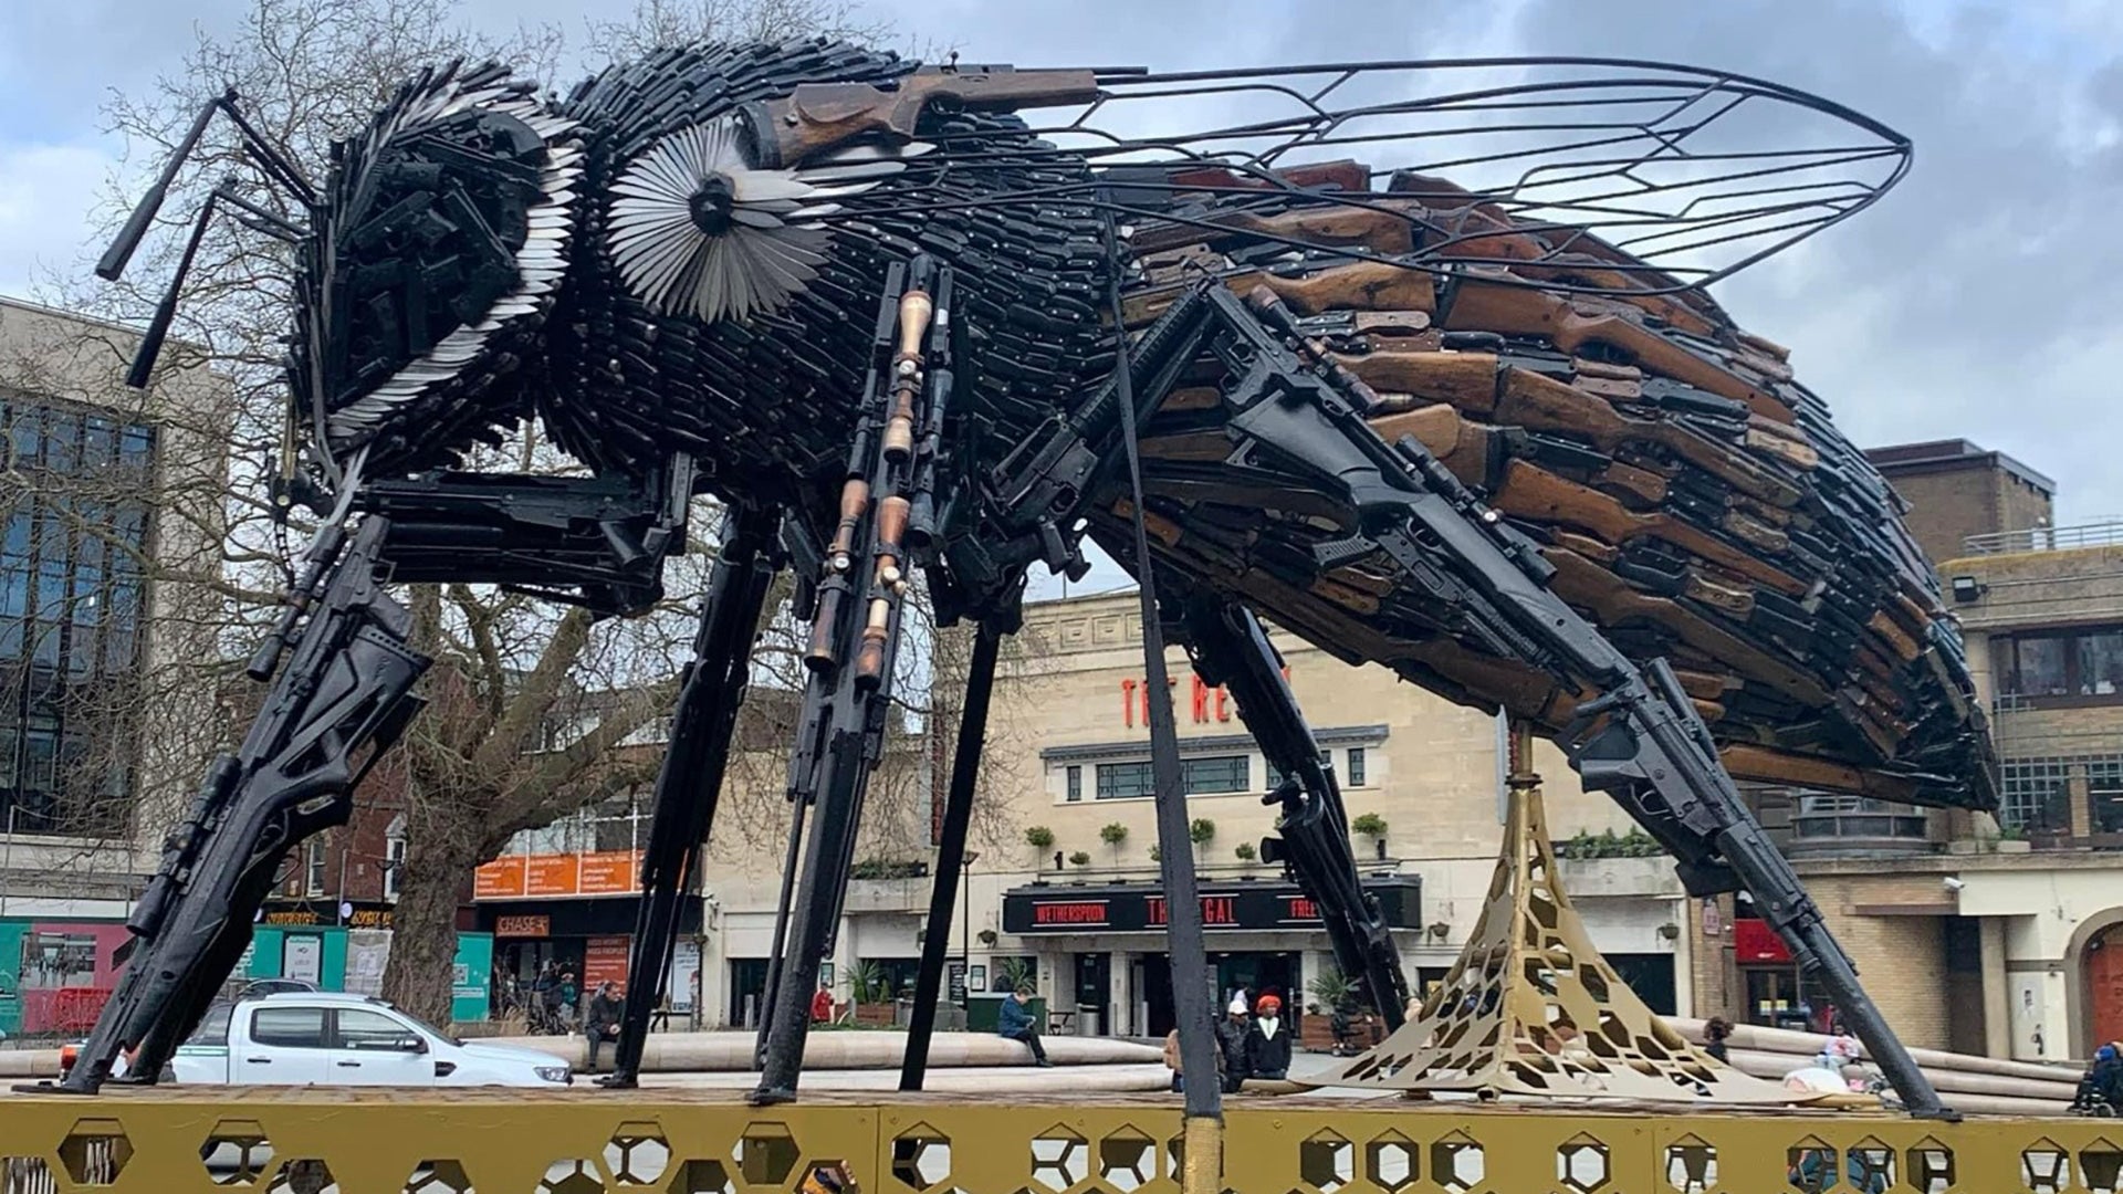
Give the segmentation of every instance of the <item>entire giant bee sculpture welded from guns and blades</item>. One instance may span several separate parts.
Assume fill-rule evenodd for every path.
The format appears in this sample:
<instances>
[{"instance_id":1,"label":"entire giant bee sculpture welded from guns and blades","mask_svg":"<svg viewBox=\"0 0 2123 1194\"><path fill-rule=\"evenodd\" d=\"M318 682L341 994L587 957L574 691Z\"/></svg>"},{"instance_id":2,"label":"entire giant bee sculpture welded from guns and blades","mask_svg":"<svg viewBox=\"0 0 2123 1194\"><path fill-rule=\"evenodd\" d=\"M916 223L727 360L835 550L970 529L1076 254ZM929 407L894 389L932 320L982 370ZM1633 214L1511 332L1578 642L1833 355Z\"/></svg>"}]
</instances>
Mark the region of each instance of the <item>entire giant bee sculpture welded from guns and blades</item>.
<instances>
[{"instance_id":1,"label":"entire giant bee sculpture welded from guns and blades","mask_svg":"<svg viewBox=\"0 0 2123 1194\"><path fill-rule=\"evenodd\" d=\"M1388 1022L1399 958L1261 616L1556 737L1690 892L1749 888L1906 1105L1940 1111L1728 769L1989 807L1983 718L1892 491L1703 291L1875 202L1909 161L1892 130L1639 62L1157 76L788 42L660 51L558 102L433 72L312 187L231 96L200 127L214 110L304 215L223 187L200 227L234 206L295 246L284 480L323 525L253 661L267 714L170 837L70 1088L125 1050L155 1077L278 860L348 816L350 758L410 716L425 661L376 576L641 610L707 491L730 512L658 780L622 1084L781 567L813 637L760 1101L796 1088L913 572L981 627L919 1084L998 639L1025 569L1081 574L1089 538L1144 582L1153 686L1170 627L1238 695L1284 775L1270 856ZM524 419L586 476L456 472ZM1183 973L1193 871L1153 714ZM1206 1050L1206 992L1180 988Z\"/></svg>"}]
</instances>

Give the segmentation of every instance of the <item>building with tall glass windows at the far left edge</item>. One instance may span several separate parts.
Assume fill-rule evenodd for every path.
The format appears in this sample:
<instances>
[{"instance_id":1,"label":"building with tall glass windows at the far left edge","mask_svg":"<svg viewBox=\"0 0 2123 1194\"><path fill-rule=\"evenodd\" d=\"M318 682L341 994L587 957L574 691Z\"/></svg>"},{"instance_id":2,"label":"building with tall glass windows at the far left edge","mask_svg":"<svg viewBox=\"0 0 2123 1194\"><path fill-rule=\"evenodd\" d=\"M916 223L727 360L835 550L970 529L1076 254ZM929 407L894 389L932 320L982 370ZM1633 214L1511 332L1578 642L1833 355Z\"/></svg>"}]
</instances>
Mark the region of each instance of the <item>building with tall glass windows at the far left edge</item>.
<instances>
[{"instance_id":1,"label":"building with tall glass windows at the far left edge","mask_svg":"<svg viewBox=\"0 0 2123 1194\"><path fill-rule=\"evenodd\" d=\"M0 1030L93 1020L197 784L229 391L0 297ZM191 497L210 495L210 501ZM185 690L183 699L176 697ZM210 701L208 701L210 705ZM189 722L189 724L187 724Z\"/></svg>"}]
</instances>

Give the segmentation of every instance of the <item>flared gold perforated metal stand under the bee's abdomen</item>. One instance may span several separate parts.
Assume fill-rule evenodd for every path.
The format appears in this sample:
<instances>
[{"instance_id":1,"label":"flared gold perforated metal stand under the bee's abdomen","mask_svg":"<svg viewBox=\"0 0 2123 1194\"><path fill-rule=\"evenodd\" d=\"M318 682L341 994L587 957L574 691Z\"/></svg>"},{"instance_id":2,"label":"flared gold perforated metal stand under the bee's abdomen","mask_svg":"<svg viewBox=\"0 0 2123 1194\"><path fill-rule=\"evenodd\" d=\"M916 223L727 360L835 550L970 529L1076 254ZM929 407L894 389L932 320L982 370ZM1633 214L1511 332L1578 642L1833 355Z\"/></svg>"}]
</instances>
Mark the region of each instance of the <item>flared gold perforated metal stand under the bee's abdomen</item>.
<instances>
[{"instance_id":1,"label":"flared gold perforated metal stand under the bee's abdomen","mask_svg":"<svg viewBox=\"0 0 2123 1194\"><path fill-rule=\"evenodd\" d=\"M1616 975L1556 875L1531 737L1512 733L1503 854L1473 937L1422 1011L1323 1086L1679 1103L1792 1103L1718 1064Z\"/></svg>"}]
</instances>

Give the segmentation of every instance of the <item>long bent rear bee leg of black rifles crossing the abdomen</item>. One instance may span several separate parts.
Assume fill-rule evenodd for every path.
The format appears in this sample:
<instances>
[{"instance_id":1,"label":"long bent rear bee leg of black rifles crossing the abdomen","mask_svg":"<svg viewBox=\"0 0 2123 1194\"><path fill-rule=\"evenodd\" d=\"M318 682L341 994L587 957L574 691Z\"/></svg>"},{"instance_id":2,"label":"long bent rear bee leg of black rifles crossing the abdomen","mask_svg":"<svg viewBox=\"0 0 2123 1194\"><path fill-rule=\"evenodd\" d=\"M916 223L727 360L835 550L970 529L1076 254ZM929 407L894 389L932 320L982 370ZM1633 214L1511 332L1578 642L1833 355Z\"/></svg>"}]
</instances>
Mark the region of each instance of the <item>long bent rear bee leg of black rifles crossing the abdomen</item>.
<instances>
[{"instance_id":1,"label":"long bent rear bee leg of black rifles crossing the abdomen","mask_svg":"<svg viewBox=\"0 0 2123 1194\"><path fill-rule=\"evenodd\" d=\"M1749 890L1909 1111L1951 1118L1858 984L1822 909L1747 812L1673 669L1664 661L1639 669L1556 597L1546 584L1552 567L1535 544L1482 506L1420 442L1386 444L1363 416L1376 395L1335 372L1331 359L1310 355L1274 295L1255 291L1240 300L1210 289L1208 302L1214 323L1208 344L1223 365L1219 412L1231 442L1210 484L1244 489L1270 516L1301 512L1337 523L1340 538L1312 548L1316 574L1371 561L1420 595L1442 633L1543 671L1565 690L1590 693L1577 705L1577 722L1560 733L1586 788L1609 792L1628 809L1679 860L1692 894ZM1157 476L1149 493L1157 497ZM1199 569L1172 544L1153 552Z\"/></svg>"}]
</instances>

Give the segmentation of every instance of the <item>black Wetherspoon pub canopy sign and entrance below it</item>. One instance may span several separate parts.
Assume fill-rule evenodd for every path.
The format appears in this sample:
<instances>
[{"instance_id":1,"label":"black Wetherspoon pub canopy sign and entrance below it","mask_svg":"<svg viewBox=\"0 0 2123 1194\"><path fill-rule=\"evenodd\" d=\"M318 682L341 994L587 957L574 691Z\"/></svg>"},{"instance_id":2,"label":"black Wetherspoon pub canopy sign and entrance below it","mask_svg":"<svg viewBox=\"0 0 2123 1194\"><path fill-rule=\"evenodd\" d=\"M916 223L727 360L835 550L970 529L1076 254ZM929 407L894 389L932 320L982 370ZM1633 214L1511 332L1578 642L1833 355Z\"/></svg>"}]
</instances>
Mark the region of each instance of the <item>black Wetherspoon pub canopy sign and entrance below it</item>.
<instances>
[{"instance_id":1,"label":"black Wetherspoon pub canopy sign and entrance below it","mask_svg":"<svg viewBox=\"0 0 2123 1194\"><path fill-rule=\"evenodd\" d=\"M1365 882L1386 924L1414 933L1422 924L1416 875ZM1176 1024L1172 965L1166 956L1168 905L1155 884L1028 884L1002 897L1002 931L1040 950L1053 975L1057 1030L1106 1037L1163 1037ZM1318 907L1297 886L1240 880L1206 884L1202 926L1216 1007L1233 994L1248 1005L1261 994L1282 999L1295 1022L1306 986L1333 965Z\"/></svg>"}]
</instances>

